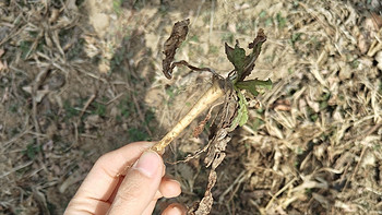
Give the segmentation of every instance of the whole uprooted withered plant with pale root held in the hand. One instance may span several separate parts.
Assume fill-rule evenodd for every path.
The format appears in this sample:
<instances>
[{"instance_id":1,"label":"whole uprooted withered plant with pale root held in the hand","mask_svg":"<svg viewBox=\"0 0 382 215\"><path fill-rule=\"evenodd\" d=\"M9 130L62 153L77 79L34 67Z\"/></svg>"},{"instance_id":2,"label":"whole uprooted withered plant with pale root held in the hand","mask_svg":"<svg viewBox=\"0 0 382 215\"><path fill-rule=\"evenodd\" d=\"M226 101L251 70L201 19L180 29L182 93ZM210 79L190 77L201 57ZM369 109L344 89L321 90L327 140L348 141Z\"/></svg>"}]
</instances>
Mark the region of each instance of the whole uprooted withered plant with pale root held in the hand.
<instances>
[{"instance_id":1,"label":"whole uprooted withered plant with pale root held in the hand","mask_svg":"<svg viewBox=\"0 0 382 215\"><path fill-rule=\"evenodd\" d=\"M187 65L191 70L195 70L195 71L203 71L203 70L214 71L210 68L200 69L200 68L190 65L184 60L174 62L171 64L176 53L176 49L179 47L180 43L184 40L188 34L189 22L190 22L189 20L177 22L174 25L171 36L165 43L164 53L166 55L166 58L163 61L163 68L164 68L164 74L166 75L167 79L171 79L172 69L179 64ZM225 44L227 58L234 64L235 70L230 72L230 74L225 79L225 82L223 82L223 79L219 75L215 75L215 73L213 72L214 74L213 79L215 79L215 81L213 81L214 82L213 86L211 86L211 88L199 99L199 101L191 108L191 110L174 127L174 129L170 130L158 143L156 143L153 146L153 150L155 150L156 152L162 152L164 147L166 147L166 145L168 145L177 135L179 135L179 133L189 123L191 123L191 121L195 117L198 117L198 115L201 111L203 111L205 108L207 108L207 106L214 103L215 99L218 98L218 96L220 96L220 94L223 95L223 92L226 93L224 106L219 110L218 122L212 126L207 147L204 147L202 150L202 151L205 151L206 148L208 150L206 157L204 159L206 168L211 166L208 184L207 184L204 198L201 200L198 208L192 207L192 210L189 211L189 214L203 215L203 214L208 214L212 210L213 200L214 200L212 195L212 188L215 186L216 179L217 179L215 170L216 170L216 167L222 164L222 162L224 160L224 157L226 156L225 148L227 146L227 143L230 141L229 133L234 131L238 126L240 127L244 126L248 121L247 100L243 94L240 92L240 89L248 89L250 93L256 96L259 95L259 92L256 91L258 86L265 86L268 88L272 86L271 80L244 81L246 76L248 76L252 72L254 68L254 62L258 59L261 51L261 47L265 40L266 40L266 36L264 34L264 31L261 28L259 29L258 36L254 38L253 43L249 44L249 48L253 49L253 51L249 56L246 56L246 50L239 47L238 40L236 41L235 49L229 47L227 44ZM234 74L235 72L236 74ZM236 76L236 77L232 80L232 76ZM216 79L220 79L218 80L220 81L220 84L218 85L216 84ZM219 93L218 96L213 96L214 93L212 92L222 92L222 93ZM194 133L193 133L194 136L198 136L202 132L205 123L210 118L211 118L211 111L205 117L205 119L199 124L199 127L194 130ZM196 153L195 155L199 155L199 153ZM191 157L188 157L188 159L190 158Z\"/></svg>"}]
</instances>

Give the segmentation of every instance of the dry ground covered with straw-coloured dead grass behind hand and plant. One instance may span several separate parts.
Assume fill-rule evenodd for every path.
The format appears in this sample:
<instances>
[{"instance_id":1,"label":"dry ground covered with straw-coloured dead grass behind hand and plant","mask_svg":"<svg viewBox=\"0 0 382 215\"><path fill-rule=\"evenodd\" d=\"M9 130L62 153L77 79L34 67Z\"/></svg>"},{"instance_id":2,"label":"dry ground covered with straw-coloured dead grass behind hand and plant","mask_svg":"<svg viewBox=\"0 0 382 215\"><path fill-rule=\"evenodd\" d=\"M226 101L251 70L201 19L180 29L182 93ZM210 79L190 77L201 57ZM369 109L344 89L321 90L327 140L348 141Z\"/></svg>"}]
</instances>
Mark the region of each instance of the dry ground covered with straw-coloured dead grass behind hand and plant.
<instances>
[{"instance_id":1,"label":"dry ground covered with straw-coloured dead grass behind hand and plant","mask_svg":"<svg viewBox=\"0 0 382 215\"><path fill-rule=\"evenodd\" d=\"M162 73L175 22L190 33L176 59L227 75L224 43L264 28L250 100L217 168L212 214L382 213L382 5L378 0L0 1L0 213L62 214L94 162L159 140L211 75ZM192 130L167 150L192 206L204 194L207 142ZM175 164L174 164L175 163Z\"/></svg>"}]
</instances>

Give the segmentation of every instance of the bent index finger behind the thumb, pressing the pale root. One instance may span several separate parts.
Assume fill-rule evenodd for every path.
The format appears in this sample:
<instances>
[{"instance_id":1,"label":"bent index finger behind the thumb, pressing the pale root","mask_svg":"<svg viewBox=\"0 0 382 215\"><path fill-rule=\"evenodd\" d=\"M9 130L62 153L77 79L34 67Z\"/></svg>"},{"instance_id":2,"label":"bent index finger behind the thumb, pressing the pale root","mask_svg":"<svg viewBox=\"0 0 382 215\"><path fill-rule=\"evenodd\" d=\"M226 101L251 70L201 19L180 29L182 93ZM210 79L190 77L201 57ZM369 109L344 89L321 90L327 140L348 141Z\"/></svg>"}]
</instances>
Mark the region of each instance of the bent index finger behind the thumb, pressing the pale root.
<instances>
[{"instance_id":1,"label":"bent index finger behind the thumb, pressing the pale root","mask_svg":"<svg viewBox=\"0 0 382 215\"><path fill-rule=\"evenodd\" d=\"M119 176L153 145L153 142L130 143L99 157L75 193L75 198L107 201L118 184Z\"/></svg>"}]
</instances>

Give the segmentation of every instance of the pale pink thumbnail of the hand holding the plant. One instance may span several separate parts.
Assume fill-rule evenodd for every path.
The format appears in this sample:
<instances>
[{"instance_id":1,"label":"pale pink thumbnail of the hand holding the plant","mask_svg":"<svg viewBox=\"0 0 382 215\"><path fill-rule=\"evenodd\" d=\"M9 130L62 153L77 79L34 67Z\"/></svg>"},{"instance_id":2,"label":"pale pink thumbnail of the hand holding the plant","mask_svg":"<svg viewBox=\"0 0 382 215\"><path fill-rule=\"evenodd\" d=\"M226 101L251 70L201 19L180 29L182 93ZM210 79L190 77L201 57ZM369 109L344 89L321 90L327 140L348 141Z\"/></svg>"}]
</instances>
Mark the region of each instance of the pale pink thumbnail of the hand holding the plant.
<instances>
[{"instance_id":1,"label":"pale pink thumbnail of the hand holding the plant","mask_svg":"<svg viewBox=\"0 0 382 215\"><path fill-rule=\"evenodd\" d=\"M158 170L160 157L154 151L146 151L135 163L134 168L147 177L153 177Z\"/></svg>"}]
</instances>

